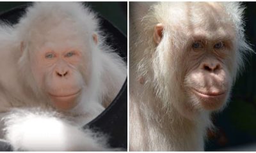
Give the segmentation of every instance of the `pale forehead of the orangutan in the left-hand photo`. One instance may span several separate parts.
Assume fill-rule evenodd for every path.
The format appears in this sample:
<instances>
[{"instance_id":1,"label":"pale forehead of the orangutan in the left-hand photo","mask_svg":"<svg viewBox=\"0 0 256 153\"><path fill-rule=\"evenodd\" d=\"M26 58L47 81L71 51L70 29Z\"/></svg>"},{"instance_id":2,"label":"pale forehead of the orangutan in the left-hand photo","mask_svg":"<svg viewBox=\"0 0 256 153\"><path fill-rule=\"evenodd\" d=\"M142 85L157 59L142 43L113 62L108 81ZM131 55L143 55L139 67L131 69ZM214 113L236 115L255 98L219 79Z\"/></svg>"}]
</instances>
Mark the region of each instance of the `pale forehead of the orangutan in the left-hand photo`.
<instances>
[{"instance_id":1,"label":"pale forehead of the orangutan in the left-hand photo","mask_svg":"<svg viewBox=\"0 0 256 153\"><path fill-rule=\"evenodd\" d=\"M40 48L81 48L88 41L88 33L72 22L52 22L36 27L31 31L29 40Z\"/></svg>"}]
</instances>

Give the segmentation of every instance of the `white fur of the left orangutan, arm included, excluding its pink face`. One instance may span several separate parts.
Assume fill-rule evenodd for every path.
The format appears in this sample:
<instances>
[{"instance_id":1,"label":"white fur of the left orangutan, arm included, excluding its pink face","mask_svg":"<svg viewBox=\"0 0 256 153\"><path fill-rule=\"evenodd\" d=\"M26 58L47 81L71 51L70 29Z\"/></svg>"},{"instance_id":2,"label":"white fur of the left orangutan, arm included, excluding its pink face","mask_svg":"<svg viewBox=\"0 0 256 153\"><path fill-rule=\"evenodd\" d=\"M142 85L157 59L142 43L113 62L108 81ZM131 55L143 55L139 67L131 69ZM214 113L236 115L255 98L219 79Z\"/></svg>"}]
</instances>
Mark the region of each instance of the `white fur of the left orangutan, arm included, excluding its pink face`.
<instances>
[{"instance_id":1,"label":"white fur of the left orangutan, arm included, excluding its pink face","mask_svg":"<svg viewBox=\"0 0 256 153\"><path fill-rule=\"evenodd\" d=\"M61 25L63 29L54 29ZM68 29L69 28L69 29ZM122 87L126 66L113 48L106 45L97 16L82 3L34 3L16 25L0 26L1 138L15 150L108 150L105 136L95 136L84 124L99 115ZM45 31L54 29L55 36ZM72 30L73 29L73 30ZM79 33L72 42L72 32ZM93 36L97 35L97 42ZM74 69L83 87L77 106L59 111L36 81L31 59L42 40L54 42L70 36L70 43L83 53ZM65 44L54 44L65 48ZM34 122L35 121L35 122ZM5 133L3 133L3 128ZM47 135L49 133L49 135Z\"/></svg>"}]
</instances>

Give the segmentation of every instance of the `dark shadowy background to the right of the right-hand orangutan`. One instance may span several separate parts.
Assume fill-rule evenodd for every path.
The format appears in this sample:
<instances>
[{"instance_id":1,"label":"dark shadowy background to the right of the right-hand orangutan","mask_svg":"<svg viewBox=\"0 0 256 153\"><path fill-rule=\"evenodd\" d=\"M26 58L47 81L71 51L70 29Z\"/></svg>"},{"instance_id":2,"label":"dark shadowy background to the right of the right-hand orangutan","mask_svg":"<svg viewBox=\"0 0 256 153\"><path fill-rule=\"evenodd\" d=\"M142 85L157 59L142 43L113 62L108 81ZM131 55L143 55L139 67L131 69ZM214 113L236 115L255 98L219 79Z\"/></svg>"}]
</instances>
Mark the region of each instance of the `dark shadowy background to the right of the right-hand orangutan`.
<instances>
[{"instance_id":1,"label":"dark shadowy background to the right of the right-hand orangutan","mask_svg":"<svg viewBox=\"0 0 256 153\"><path fill-rule=\"evenodd\" d=\"M256 53L256 2L243 4L246 38ZM256 54L248 56L229 105L212 120L218 130L208 132L206 150L256 151Z\"/></svg>"}]
</instances>

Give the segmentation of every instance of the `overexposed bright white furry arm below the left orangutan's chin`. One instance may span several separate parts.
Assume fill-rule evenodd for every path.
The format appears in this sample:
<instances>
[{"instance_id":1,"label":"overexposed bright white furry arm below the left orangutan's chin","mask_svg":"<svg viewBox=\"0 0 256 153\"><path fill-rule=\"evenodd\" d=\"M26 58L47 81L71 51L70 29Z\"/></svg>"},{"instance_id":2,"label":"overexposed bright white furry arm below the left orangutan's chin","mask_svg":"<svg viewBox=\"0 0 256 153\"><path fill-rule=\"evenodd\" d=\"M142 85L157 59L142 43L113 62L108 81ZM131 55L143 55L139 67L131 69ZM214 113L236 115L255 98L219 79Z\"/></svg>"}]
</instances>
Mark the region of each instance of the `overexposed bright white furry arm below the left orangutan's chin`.
<instances>
[{"instance_id":1,"label":"overexposed bright white furry arm below the left orangutan's chin","mask_svg":"<svg viewBox=\"0 0 256 153\"><path fill-rule=\"evenodd\" d=\"M16 110L4 118L6 140L14 150L30 151L104 151L106 138L54 117L52 112ZM104 135L102 135L104 136ZM102 142L97 142L102 141Z\"/></svg>"}]
</instances>

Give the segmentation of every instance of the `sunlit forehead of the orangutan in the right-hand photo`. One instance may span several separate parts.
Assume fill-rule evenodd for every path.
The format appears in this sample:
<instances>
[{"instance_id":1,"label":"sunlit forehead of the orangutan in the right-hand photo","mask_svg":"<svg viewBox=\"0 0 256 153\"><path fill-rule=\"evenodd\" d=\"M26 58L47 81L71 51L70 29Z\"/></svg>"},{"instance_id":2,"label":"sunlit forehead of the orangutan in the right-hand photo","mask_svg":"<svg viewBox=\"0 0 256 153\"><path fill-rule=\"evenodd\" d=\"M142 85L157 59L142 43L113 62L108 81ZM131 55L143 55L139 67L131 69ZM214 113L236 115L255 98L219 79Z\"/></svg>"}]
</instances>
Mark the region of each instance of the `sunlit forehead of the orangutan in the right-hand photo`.
<instances>
[{"instance_id":1,"label":"sunlit forehead of the orangutan in the right-hand photo","mask_svg":"<svg viewBox=\"0 0 256 153\"><path fill-rule=\"evenodd\" d=\"M169 10L168 26L172 26L175 31L182 31L186 36L209 39L232 37L236 33L223 4L191 2L177 5Z\"/></svg>"}]
</instances>

